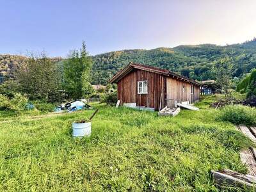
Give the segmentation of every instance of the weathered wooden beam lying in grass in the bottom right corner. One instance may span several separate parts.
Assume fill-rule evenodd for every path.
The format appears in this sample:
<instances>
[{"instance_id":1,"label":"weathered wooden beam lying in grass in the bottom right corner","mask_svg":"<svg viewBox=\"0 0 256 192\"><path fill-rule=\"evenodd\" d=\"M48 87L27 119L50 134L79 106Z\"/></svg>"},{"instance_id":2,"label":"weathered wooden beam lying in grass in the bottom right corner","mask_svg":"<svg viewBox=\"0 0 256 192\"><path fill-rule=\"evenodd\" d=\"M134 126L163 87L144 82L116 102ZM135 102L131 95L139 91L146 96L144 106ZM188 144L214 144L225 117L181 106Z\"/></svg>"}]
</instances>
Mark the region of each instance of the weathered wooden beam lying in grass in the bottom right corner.
<instances>
[{"instance_id":1,"label":"weathered wooden beam lying in grass in the bottom right corner","mask_svg":"<svg viewBox=\"0 0 256 192\"><path fill-rule=\"evenodd\" d=\"M211 171L212 177L216 184L232 185L240 188L255 189L256 177L251 175L243 175L231 170Z\"/></svg>"}]
</instances>

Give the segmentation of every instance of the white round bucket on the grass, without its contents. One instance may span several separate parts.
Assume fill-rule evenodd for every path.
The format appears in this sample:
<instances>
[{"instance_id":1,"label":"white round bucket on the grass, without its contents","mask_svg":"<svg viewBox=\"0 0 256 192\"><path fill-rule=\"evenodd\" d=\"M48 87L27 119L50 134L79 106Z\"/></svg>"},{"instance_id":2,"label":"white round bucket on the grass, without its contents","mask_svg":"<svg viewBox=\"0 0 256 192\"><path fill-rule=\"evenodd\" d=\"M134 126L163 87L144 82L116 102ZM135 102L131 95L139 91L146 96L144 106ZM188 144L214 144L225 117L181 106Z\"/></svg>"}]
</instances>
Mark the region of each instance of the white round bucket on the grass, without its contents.
<instances>
[{"instance_id":1,"label":"white round bucket on the grass, without its contents","mask_svg":"<svg viewBox=\"0 0 256 192\"><path fill-rule=\"evenodd\" d=\"M72 136L73 137L90 136L90 134L92 132L91 125L92 125L91 122L86 122L86 123L81 123L81 124L73 123L72 124L72 129L73 129Z\"/></svg>"}]
</instances>

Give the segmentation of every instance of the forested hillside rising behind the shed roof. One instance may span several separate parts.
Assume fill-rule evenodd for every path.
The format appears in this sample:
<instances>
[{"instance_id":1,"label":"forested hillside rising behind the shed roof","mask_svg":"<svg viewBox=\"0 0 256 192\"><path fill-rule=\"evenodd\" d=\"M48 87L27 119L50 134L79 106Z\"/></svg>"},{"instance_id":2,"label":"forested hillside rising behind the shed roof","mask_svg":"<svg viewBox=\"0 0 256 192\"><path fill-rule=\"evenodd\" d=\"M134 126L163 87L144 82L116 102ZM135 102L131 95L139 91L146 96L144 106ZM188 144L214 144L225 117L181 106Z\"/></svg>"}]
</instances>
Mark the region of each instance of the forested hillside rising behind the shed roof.
<instances>
[{"instance_id":1,"label":"forested hillside rising behind the shed roof","mask_svg":"<svg viewBox=\"0 0 256 192\"><path fill-rule=\"evenodd\" d=\"M226 56L232 58L234 76L246 74L256 67L256 39L226 46L180 45L173 48L133 49L99 54L93 56L92 83L106 84L113 74L129 62L166 68L200 81L214 79L213 63Z\"/></svg>"}]
</instances>

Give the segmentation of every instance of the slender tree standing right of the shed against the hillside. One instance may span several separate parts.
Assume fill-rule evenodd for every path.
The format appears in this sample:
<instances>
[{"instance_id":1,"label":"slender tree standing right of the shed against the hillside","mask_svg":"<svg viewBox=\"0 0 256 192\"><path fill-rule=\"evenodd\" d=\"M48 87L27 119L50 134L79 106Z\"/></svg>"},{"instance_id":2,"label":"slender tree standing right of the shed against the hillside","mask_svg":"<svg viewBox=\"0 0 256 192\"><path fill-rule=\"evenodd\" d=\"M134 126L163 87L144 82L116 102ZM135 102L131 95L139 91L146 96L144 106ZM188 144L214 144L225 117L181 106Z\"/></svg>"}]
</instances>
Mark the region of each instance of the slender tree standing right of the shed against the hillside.
<instances>
[{"instance_id":1,"label":"slender tree standing right of the shed against the hillside","mask_svg":"<svg viewBox=\"0 0 256 192\"><path fill-rule=\"evenodd\" d=\"M220 59L214 65L216 83L221 87L221 90L223 90L226 96L232 84L232 68L233 63L228 57Z\"/></svg>"}]
</instances>

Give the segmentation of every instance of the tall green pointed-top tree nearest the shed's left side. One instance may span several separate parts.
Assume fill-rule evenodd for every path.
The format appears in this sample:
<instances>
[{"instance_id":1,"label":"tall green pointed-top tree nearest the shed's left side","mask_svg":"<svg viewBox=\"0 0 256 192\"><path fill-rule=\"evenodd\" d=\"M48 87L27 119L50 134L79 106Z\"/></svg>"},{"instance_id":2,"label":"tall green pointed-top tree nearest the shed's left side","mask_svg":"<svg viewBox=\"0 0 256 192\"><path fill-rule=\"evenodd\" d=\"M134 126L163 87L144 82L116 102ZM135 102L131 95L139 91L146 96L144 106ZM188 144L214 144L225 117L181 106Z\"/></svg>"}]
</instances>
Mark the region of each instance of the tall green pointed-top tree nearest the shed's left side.
<instances>
[{"instance_id":1,"label":"tall green pointed-top tree nearest the shed's left side","mask_svg":"<svg viewBox=\"0 0 256 192\"><path fill-rule=\"evenodd\" d=\"M92 93L91 68L92 58L88 56L83 41L81 49L71 51L68 59L63 63L63 87L70 98L80 99Z\"/></svg>"}]
</instances>

